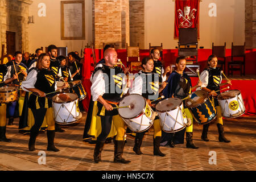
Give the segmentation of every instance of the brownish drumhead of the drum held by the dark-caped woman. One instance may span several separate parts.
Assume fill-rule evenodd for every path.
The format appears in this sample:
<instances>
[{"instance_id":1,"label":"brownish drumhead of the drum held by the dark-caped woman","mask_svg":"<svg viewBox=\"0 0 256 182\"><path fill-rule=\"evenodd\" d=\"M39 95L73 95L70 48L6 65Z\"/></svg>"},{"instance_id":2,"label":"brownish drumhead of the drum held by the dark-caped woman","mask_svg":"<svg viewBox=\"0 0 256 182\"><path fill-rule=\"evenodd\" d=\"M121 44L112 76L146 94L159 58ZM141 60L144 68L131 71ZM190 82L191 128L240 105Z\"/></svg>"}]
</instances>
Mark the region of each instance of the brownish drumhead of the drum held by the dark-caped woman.
<instances>
[{"instance_id":1,"label":"brownish drumhead of the drum held by the dark-caped woman","mask_svg":"<svg viewBox=\"0 0 256 182\"><path fill-rule=\"evenodd\" d=\"M167 98L156 104L155 109L160 112L166 112L174 110L181 105L182 101L180 98Z\"/></svg>"}]
</instances>

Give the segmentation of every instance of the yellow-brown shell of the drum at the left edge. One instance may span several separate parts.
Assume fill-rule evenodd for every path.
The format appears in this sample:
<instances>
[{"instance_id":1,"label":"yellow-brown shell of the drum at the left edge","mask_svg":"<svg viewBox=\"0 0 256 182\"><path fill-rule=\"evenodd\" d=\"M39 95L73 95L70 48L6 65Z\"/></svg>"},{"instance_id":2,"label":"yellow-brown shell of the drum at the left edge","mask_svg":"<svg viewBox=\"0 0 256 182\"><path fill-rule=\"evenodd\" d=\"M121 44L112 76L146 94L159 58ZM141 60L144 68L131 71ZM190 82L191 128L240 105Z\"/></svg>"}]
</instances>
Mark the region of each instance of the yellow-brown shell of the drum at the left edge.
<instances>
[{"instance_id":1,"label":"yellow-brown shell of the drum at the left edge","mask_svg":"<svg viewBox=\"0 0 256 182\"><path fill-rule=\"evenodd\" d=\"M19 94L18 94L18 89L16 87L14 87L14 89L11 90L6 90L0 91L0 103L10 103L10 102L14 102L17 101L19 98Z\"/></svg>"}]
</instances>

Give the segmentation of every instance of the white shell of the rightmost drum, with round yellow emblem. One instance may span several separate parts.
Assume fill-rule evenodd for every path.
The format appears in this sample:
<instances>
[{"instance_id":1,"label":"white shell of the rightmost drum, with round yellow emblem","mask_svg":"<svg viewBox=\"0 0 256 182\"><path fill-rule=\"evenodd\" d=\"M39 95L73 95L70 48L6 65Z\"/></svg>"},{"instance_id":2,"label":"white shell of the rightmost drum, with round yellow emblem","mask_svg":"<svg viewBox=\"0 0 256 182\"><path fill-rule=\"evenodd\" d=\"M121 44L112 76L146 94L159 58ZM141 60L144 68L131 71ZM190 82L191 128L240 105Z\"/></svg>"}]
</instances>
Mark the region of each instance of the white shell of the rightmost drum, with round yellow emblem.
<instances>
[{"instance_id":1,"label":"white shell of the rightmost drum, with round yellow emblem","mask_svg":"<svg viewBox=\"0 0 256 182\"><path fill-rule=\"evenodd\" d=\"M241 92L236 97L226 100L220 100L218 97L218 104L221 107L222 116L225 118L236 118L245 113L245 105Z\"/></svg>"}]
</instances>

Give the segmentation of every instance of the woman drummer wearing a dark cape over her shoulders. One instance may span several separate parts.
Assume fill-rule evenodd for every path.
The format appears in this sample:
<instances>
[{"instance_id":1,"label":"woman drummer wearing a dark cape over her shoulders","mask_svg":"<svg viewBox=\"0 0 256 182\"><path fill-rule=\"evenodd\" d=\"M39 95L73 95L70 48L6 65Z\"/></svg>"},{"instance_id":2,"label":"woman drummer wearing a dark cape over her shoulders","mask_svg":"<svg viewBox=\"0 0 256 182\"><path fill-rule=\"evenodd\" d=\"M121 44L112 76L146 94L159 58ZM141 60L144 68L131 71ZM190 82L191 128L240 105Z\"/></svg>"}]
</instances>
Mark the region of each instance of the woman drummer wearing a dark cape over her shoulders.
<instances>
[{"instance_id":1,"label":"woman drummer wearing a dark cape over her shoulders","mask_svg":"<svg viewBox=\"0 0 256 182\"><path fill-rule=\"evenodd\" d=\"M189 94L191 94L191 90L201 86L201 82L197 82L197 85L192 87L191 79L184 72L184 69L186 67L186 59L184 56L177 57L175 65L177 67L177 70L173 71L169 76L167 81L168 86L163 90L163 96L166 98L180 98L182 100L183 98L186 98ZM191 125L187 126L185 129L187 141L186 147L197 149L199 147L196 147L195 144L193 144L193 117L188 108L185 107L184 101L183 105L184 113L187 116L188 120L190 119L191 121ZM184 141L184 131L178 131L176 134ZM164 133L162 143L168 141L170 147L174 147L174 135L175 133Z\"/></svg>"}]
</instances>

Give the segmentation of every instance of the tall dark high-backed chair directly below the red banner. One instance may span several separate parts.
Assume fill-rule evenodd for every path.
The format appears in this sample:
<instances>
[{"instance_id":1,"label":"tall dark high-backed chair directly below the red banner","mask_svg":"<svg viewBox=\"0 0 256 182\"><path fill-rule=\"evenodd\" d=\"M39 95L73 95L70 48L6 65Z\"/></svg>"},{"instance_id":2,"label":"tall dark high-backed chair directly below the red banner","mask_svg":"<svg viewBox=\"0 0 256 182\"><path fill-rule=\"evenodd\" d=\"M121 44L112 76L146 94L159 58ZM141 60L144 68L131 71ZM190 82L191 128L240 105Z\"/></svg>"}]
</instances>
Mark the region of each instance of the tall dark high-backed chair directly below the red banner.
<instances>
[{"instance_id":1,"label":"tall dark high-backed chair directly below the red banner","mask_svg":"<svg viewBox=\"0 0 256 182\"><path fill-rule=\"evenodd\" d=\"M179 28L178 55L198 57L197 28Z\"/></svg>"}]
</instances>

